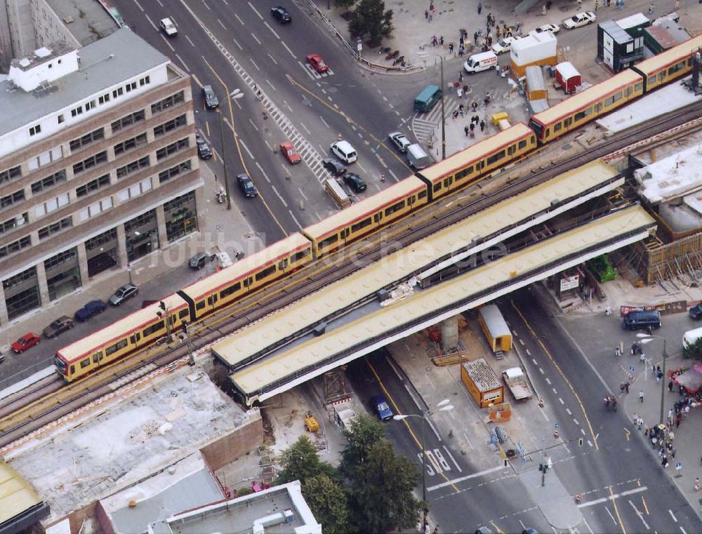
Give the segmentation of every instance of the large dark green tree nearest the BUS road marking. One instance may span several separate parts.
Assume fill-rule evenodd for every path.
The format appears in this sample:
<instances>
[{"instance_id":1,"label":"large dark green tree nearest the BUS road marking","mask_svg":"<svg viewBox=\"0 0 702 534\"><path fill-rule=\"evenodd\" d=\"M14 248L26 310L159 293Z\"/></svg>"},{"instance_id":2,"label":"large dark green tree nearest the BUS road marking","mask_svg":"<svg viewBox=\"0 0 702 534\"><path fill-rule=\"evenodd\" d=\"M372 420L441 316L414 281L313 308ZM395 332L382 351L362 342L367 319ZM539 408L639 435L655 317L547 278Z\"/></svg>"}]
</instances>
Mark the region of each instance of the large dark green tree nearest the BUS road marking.
<instances>
[{"instance_id":1,"label":"large dark green tree nearest the BUS road marking","mask_svg":"<svg viewBox=\"0 0 702 534\"><path fill-rule=\"evenodd\" d=\"M349 509L358 532L388 532L414 526L421 503L414 497L420 474L387 439L376 441L350 476Z\"/></svg>"}]
</instances>

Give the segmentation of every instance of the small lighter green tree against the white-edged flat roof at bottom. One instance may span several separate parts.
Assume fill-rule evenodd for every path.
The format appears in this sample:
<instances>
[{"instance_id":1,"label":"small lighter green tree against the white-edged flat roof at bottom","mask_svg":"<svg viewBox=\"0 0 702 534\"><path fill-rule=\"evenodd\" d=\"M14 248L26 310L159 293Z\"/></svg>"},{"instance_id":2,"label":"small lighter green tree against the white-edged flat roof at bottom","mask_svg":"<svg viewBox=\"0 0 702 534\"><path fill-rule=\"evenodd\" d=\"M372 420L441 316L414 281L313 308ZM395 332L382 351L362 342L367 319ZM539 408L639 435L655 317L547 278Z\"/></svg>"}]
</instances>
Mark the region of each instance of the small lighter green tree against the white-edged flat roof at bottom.
<instances>
[{"instance_id":1,"label":"small lighter green tree against the white-edged flat roof at bottom","mask_svg":"<svg viewBox=\"0 0 702 534\"><path fill-rule=\"evenodd\" d=\"M325 534L351 532L346 493L338 481L326 474L312 476L303 485L303 495Z\"/></svg>"}]
</instances>

